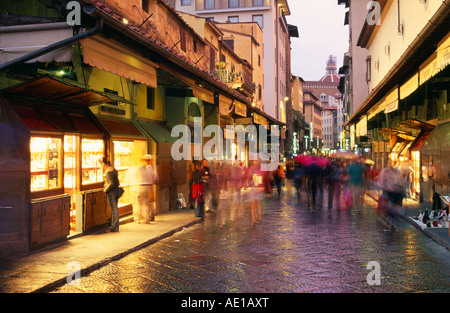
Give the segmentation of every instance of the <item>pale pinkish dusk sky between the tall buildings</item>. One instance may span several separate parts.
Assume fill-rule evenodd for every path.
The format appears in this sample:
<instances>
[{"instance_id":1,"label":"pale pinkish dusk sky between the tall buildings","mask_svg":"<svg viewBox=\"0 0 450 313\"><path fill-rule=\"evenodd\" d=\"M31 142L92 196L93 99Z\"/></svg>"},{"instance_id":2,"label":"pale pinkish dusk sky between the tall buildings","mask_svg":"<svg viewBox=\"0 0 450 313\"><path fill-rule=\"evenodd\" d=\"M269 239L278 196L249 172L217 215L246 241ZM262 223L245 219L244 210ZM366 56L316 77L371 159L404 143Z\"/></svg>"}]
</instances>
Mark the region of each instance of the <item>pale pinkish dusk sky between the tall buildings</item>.
<instances>
[{"instance_id":1,"label":"pale pinkish dusk sky between the tall buildings","mask_svg":"<svg viewBox=\"0 0 450 313\"><path fill-rule=\"evenodd\" d=\"M330 55L342 66L348 51L348 25L344 26L345 5L337 0L289 0L291 15L286 19L298 27L299 38L291 38L291 72L304 80L319 80L325 75Z\"/></svg>"}]
</instances>

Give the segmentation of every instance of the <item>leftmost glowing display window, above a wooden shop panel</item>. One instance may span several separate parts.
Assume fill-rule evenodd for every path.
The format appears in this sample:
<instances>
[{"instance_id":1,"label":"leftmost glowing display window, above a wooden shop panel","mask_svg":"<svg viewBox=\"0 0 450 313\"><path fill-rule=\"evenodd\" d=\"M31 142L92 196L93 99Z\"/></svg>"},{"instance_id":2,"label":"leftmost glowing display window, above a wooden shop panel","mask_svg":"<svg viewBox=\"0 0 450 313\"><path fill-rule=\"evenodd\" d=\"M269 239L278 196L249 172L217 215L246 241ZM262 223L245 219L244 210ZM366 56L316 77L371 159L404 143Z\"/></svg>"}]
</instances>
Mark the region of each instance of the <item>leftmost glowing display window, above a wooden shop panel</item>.
<instances>
[{"instance_id":1,"label":"leftmost glowing display window, above a wooden shop panel","mask_svg":"<svg viewBox=\"0 0 450 313\"><path fill-rule=\"evenodd\" d=\"M55 190L62 183L62 138L30 138L31 191Z\"/></svg>"}]
</instances>

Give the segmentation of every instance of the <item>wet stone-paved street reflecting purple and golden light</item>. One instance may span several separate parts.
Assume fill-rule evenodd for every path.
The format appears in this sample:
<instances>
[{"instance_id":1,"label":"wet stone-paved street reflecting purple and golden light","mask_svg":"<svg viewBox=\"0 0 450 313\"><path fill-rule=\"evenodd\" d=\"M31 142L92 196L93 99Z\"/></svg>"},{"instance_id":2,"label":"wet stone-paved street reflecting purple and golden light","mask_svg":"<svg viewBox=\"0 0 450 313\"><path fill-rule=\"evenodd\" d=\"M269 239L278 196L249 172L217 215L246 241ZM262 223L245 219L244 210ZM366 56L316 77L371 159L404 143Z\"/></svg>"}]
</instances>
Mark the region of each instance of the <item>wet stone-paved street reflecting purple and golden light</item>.
<instances>
[{"instance_id":1,"label":"wet stone-paved street reflecting purple and golden light","mask_svg":"<svg viewBox=\"0 0 450 313\"><path fill-rule=\"evenodd\" d=\"M450 251L398 217L387 231L369 197L360 211L329 213L285 189L281 199L264 197L261 220L252 223L243 195L239 209L221 199L219 212L203 222L54 292L450 291Z\"/></svg>"}]
</instances>

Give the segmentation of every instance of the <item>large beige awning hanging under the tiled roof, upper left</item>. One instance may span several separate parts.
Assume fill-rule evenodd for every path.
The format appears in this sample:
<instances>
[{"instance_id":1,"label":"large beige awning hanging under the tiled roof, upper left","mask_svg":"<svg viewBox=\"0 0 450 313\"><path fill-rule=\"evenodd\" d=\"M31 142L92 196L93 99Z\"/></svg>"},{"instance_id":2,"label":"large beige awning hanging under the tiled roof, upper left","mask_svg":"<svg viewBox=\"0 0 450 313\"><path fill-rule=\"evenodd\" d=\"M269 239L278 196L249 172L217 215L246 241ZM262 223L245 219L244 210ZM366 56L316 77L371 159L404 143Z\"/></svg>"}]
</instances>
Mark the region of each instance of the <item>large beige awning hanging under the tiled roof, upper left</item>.
<instances>
[{"instance_id":1,"label":"large beige awning hanging under the tiled roof, upper left","mask_svg":"<svg viewBox=\"0 0 450 313\"><path fill-rule=\"evenodd\" d=\"M100 36L86 38L81 45L85 63L149 87L157 87L156 63Z\"/></svg>"}]
</instances>

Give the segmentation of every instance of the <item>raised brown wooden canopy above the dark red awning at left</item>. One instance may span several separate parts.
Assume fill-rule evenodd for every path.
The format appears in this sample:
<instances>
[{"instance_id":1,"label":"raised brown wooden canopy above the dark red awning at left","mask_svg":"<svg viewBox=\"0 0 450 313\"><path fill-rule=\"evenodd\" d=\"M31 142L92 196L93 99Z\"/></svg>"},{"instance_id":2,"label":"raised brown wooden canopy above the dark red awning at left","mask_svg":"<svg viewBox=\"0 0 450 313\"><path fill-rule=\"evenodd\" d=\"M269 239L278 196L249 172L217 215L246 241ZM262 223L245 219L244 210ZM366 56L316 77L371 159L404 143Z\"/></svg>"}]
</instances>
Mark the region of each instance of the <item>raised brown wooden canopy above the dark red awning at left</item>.
<instances>
[{"instance_id":1,"label":"raised brown wooden canopy above the dark red awning at left","mask_svg":"<svg viewBox=\"0 0 450 313\"><path fill-rule=\"evenodd\" d=\"M113 95L110 97L105 93L83 88L75 82L66 83L50 77L40 77L9 87L2 90L2 94L86 107L118 100L125 101L121 97L117 99L117 96L114 98Z\"/></svg>"}]
</instances>

